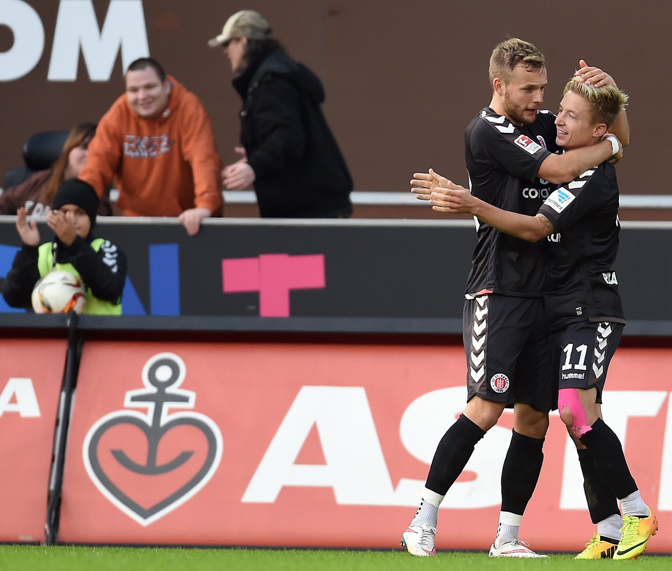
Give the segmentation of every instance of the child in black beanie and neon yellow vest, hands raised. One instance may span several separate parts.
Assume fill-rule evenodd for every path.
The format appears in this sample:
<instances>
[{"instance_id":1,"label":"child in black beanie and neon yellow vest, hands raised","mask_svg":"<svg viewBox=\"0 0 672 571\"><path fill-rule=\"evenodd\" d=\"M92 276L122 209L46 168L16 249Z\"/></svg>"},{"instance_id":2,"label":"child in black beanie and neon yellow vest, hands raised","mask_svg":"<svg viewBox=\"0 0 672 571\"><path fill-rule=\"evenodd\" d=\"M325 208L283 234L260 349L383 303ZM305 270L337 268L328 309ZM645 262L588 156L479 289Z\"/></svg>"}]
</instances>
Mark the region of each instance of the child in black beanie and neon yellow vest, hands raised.
<instances>
[{"instance_id":1,"label":"child in black beanie and neon yellow vest, hands raised","mask_svg":"<svg viewBox=\"0 0 672 571\"><path fill-rule=\"evenodd\" d=\"M30 308L30 296L38 279L52 269L69 271L87 288L85 314L120 315L126 282L126 255L103 238L94 238L91 229L99 199L91 187L78 179L65 181L54 195L47 225L56 236L53 242L40 243L36 223L26 220L19 208L16 229L20 249L7 273L3 297L11 307Z\"/></svg>"}]
</instances>

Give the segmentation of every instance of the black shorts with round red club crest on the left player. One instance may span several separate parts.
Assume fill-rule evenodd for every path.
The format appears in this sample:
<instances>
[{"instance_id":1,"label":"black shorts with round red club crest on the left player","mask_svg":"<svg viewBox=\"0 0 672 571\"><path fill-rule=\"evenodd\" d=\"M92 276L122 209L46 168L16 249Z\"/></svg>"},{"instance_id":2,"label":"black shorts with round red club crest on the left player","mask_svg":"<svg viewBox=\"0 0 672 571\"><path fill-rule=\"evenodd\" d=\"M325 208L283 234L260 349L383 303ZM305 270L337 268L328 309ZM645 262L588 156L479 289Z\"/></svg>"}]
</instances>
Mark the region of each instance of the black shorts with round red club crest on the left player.
<instances>
[{"instance_id":1,"label":"black shorts with round red club crest on the left player","mask_svg":"<svg viewBox=\"0 0 672 571\"><path fill-rule=\"evenodd\" d=\"M557 384L544 301L488 294L468 299L462 315L466 352L467 400L529 404L546 412L557 408Z\"/></svg>"}]
</instances>

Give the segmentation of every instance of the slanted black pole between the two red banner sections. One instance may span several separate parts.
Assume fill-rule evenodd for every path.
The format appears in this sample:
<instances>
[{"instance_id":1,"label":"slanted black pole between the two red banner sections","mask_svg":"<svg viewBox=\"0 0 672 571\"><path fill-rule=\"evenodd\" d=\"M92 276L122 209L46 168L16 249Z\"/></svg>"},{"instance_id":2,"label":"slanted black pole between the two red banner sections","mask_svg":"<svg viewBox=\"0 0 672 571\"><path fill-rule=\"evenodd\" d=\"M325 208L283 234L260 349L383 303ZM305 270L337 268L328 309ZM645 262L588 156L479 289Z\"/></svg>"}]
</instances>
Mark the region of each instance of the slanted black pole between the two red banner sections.
<instances>
[{"instance_id":1,"label":"slanted black pole between the two red banner sections","mask_svg":"<svg viewBox=\"0 0 672 571\"><path fill-rule=\"evenodd\" d=\"M54 459L49 478L49 502L46 511L45 543L47 545L53 545L58 540L58 517L60 515L60 492L65 466L65 447L68 442L70 410L73 402L73 392L77 384L77 370L79 369L79 335L77 335L77 314L74 311L68 314L67 324L68 349L58 404L58 425L54 433Z\"/></svg>"}]
</instances>

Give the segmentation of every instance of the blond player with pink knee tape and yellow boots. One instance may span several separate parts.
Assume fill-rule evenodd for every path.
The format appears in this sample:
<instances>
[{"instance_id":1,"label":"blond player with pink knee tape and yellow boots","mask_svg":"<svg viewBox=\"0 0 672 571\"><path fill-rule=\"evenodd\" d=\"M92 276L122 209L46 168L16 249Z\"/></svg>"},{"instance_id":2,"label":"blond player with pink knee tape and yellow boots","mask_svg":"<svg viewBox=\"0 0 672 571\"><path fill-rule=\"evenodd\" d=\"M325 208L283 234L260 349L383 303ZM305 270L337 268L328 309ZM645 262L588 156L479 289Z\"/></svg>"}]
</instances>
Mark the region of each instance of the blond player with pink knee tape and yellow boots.
<instances>
[{"instance_id":1,"label":"blond player with pink knee tape and yellow boots","mask_svg":"<svg viewBox=\"0 0 672 571\"><path fill-rule=\"evenodd\" d=\"M627 103L628 95L615 84L594 87L573 77L564 87L555 120L556 144L571 151L610 140L616 150L609 129ZM636 558L655 535L658 521L642 500L618 436L601 412L607 369L625 324L613 269L620 230L616 169L604 161L560 185L536 216L501 210L431 174L434 210L473 214L521 240L543 240L548 257L544 304L558 409L577 445L591 519L597 524L597 533L577 559Z\"/></svg>"}]
</instances>

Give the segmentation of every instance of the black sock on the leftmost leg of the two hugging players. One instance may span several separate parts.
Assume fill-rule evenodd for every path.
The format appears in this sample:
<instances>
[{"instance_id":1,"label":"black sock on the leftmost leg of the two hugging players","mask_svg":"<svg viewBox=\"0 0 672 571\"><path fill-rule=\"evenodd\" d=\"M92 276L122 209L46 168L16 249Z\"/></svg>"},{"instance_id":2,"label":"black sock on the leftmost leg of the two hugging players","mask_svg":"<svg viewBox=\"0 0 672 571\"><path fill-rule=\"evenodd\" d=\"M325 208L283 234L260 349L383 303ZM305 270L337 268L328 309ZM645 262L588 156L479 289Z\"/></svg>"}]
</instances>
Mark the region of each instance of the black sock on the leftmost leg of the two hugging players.
<instances>
[{"instance_id":1,"label":"black sock on the leftmost leg of the two hugging players","mask_svg":"<svg viewBox=\"0 0 672 571\"><path fill-rule=\"evenodd\" d=\"M460 414L436 447L425 487L445 496L469 462L474 446L484 436L483 429Z\"/></svg>"}]
</instances>

